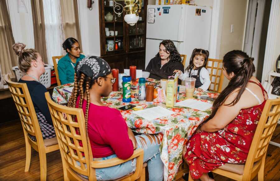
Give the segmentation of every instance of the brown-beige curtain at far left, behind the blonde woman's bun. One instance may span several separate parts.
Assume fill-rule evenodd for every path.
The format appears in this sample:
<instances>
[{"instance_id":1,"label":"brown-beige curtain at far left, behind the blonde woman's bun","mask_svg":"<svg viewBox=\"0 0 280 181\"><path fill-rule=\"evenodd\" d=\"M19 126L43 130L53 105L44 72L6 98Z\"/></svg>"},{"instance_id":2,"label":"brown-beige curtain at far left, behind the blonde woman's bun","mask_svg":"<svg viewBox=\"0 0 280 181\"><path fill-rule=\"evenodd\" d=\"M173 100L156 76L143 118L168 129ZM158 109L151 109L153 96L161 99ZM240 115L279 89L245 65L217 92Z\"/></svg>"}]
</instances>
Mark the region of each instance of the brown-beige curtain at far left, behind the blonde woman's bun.
<instances>
[{"instance_id":1,"label":"brown-beige curtain at far left, behind the blonde woman's bun","mask_svg":"<svg viewBox=\"0 0 280 181\"><path fill-rule=\"evenodd\" d=\"M13 75L12 67L17 65L17 56L12 49L15 40L12 33L6 0L0 0L0 65L2 75Z\"/></svg>"}]
</instances>

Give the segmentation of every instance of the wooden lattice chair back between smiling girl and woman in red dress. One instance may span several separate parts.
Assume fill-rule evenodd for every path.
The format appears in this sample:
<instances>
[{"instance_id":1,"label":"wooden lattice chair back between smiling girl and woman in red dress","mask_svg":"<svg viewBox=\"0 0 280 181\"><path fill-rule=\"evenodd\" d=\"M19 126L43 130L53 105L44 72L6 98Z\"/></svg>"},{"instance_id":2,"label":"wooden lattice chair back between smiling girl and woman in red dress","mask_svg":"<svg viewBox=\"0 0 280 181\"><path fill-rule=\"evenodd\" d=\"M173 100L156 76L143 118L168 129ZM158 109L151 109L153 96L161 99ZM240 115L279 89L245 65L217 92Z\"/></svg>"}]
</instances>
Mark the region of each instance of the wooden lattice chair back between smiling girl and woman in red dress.
<instances>
[{"instance_id":1,"label":"wooden lattice chair back between smiling girl and woman in red dress","mask_svg":"<svg viewBox=\"0 0 280 181\"><path fill-rule=\"evenodd\" d=\"M209 86L209 91L218 93L222 91L222 84L224 79L222 66L222 60L208 58L206 69L210 71L211 84Z\"/></svg>"}]
</instances>

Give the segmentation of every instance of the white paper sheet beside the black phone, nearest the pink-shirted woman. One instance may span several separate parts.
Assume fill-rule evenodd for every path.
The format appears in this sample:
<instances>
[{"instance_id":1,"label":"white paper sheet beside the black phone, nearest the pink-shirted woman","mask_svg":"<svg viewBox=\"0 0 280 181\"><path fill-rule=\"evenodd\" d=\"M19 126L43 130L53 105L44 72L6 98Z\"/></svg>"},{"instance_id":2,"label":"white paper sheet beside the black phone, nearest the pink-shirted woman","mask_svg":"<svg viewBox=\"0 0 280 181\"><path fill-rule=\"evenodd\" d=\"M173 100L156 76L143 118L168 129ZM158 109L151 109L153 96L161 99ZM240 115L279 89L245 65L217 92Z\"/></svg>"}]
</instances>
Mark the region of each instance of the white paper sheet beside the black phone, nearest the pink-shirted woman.
<instances>
[{"instance_id":1,"label":"white paper sheet beside the black phone, nearest the pink-shirted woman","mask_svg":"<svg viewBox=\"0 0 280 181\"><path fill-rule=\"evenodd\" d=\"M132 113L137 114L138 116L141 116L142 118L145 118L149 121L156 118L161 118L164 116L175 114L175 112L170 111L169 109L163 108L161 106L143 109L140 111L133 111Z\"/></svg>"}]
</instances>

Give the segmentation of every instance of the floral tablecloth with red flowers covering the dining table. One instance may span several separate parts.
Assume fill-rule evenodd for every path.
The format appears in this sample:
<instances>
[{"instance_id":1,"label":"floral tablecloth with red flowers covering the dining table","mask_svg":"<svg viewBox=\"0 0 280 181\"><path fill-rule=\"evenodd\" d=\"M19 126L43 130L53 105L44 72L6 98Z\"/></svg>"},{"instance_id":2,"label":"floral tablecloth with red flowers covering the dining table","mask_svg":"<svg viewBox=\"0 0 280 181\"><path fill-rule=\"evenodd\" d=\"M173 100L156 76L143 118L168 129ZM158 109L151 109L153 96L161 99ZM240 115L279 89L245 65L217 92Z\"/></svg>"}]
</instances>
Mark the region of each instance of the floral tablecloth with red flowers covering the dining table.
<instances>
[{"instance_id":1,"label":"floral tablecloth with red flowers covering the dining table","mask_svg":"<svg viewBox=\"0 0 280 181\"><path fill-rule=\"evenodd\" d=\"M159 83L157 80L149 80ZM65 91L65 88L69 88L73 84L65 84L57 86L53 91L54 100L59 103L66 103L69 99L71 93ZM64 89L64 90L63 90ZM194 99L200 100L201 96L209 96L216 98L218 93L205 91L205 92L194 92ZM184 92L180 93L179 100L186 99ZM200 100L203 102L212 103L208 100ZM162 106L166 108L165 103L158 102L146 102L139 100L132 100L130 103L122 102L122 91L111 92L109 97L103 97L102 102L112 108L119 108L127 104L140 105L144 109ZM189 140L191 135L194 133L196 128L200 123L202 123L206 118L208 118L211 113L211 109L205 111L200 111L196 109L191 109L188 107L173 107L167 108L175 112L170 116L157 118L154 120L146 120L133 114L132 109L120 110L128 127L132 128L133 131L145 134L158 134L161 140L161 160L163 161L164 168L164 180L174 180L176 173L179 169L179 165L182 163L182 151L184 144Z\"/></svg>"}]
</instances>

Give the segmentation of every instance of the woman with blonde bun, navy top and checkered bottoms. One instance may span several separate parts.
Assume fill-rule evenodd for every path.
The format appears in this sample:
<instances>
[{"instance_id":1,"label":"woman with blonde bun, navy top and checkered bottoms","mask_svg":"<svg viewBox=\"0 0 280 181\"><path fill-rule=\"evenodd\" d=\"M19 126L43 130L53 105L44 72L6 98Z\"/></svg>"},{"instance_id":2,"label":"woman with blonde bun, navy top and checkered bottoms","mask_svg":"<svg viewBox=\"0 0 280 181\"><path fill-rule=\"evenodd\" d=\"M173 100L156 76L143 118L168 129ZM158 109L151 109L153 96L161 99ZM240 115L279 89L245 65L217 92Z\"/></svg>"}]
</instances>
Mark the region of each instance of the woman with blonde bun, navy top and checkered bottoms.
<instances>
[{"instance_id":1,"label":"woman with blonde bun, navy top and checkered bottoms","mask_svg":"<svg viewBox=\"0 0 280 181\"><path fill-rule=\"evenodd\" d=\"M21 77L18 82L26 83L28 87L43 139L53 138L56 135L44 95L47 89L39 82L40 76L45 72L44 62L41 55L35 49L24 49L25 47L26 45L23 43L16 43L12 47L18 56L20 70L26 72L26 75ZM32 135L29 135L29 137L36 141L36 137Z\"/></svg>"}]
</instances>

